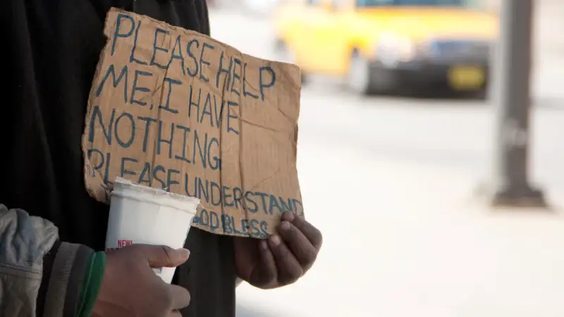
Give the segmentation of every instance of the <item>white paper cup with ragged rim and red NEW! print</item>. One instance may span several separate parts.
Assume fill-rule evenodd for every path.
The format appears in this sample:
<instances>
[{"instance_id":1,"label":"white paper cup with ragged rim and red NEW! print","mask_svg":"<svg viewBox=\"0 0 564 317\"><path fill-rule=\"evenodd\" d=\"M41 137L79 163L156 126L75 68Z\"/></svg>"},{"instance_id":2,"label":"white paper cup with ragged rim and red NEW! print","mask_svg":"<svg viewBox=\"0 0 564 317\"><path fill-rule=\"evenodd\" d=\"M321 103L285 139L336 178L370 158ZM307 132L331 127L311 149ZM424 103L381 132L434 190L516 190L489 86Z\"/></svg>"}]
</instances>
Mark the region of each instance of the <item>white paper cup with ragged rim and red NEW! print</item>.
<instances>
[{"instance_id":1,"label":"white paper cup with ragged rim and red NEW! print","mask_svg":"<svg viewBox=\"0 0 564 317\"><path fill-rule=\"evenodd\" d=\"M182 248L199 204L198 198L116 179L111 193L106 252L130 244ZM172 282L175 270L154 269L167 283Z\"/></svg>"}]
</instances>

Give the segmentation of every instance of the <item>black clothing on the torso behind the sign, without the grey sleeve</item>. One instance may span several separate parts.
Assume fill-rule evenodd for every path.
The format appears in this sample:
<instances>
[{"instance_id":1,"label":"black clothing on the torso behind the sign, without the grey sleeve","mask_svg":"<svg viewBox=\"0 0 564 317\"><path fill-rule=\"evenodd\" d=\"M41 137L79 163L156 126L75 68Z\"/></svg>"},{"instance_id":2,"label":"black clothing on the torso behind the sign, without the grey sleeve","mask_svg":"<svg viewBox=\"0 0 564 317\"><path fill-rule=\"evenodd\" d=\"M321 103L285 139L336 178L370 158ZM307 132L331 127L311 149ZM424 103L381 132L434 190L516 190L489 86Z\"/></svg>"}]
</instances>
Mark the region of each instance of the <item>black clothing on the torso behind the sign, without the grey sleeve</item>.
<instances>
[{"instance_id":1,"label":"black clothing on the torso behind the sign, without the grey sleeve","mask_svg":"<svg viewBox=\"0 0 564 317\"><path fill-rule=\"evenodd\" d=\"M62 241L104 250L109 208L85 191L80 148L87 97L112 6L209 34L205 0L6 0L0 68L0 203L59 227ZM184 316L235 316L233 239L191 229L174 282Z\"/></svg>"}]
</instances>

